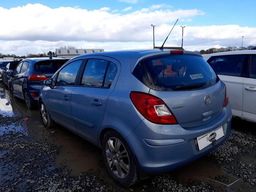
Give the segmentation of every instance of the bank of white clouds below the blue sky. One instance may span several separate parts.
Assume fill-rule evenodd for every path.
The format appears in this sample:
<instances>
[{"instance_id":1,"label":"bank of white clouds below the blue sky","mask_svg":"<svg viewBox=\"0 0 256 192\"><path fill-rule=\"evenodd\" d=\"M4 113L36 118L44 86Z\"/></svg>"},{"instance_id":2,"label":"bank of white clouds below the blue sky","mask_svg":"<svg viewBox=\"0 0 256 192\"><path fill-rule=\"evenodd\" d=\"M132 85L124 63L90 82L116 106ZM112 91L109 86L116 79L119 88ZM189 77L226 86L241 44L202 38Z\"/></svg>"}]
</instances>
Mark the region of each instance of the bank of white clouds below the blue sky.
<instances>
[{"instance_id":1,"label":"bank of white clouds below the blue sky","mask_svg":"<svg viewBox=\"0 0 256 192\"><path fill-rule=\"evenodd\" d=\"M151 24L156 25L156 46L161 46L177 18L189 22L195 16L204 15L197 9L168 10L164 7L161 10L142 8L125 14L112 14L109 10L106 7L99 10L49 8L42 4L11 9L0 7L0 18L5 18L1 20L1 26L8 29L0 30L0 53L24 55L48 52L65 45L104 50L152 48ZM182 29L177 24L166 46L180 46L181 35ZM241 36L244 36L244 46L256 45L255 27L186 24L184 48L240 46Z\"/></svg>"}]
</instances>

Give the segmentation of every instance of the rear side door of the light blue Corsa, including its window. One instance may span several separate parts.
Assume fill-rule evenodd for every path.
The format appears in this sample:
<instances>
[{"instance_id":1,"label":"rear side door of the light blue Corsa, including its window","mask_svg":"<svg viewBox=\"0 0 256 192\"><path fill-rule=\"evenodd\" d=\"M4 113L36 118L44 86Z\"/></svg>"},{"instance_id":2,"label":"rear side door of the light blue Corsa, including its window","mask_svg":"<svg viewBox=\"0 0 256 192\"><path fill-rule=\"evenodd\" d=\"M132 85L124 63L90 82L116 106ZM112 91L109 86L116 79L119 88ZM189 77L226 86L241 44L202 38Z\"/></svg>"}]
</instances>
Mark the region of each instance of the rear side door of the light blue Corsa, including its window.
<instances>
[{"instance_id":1,"label":"rear side door of the light blue Corsa, including its window","mask_svg":"<svg viewBox=\"0 0 256 192\"><path fill-rule=\"evenodd\" d=\"M78 86L72 92L71 107L76 132L95 144L120 68L120 63L114 59L89 56Z\"/></svg>"}]
</instances>

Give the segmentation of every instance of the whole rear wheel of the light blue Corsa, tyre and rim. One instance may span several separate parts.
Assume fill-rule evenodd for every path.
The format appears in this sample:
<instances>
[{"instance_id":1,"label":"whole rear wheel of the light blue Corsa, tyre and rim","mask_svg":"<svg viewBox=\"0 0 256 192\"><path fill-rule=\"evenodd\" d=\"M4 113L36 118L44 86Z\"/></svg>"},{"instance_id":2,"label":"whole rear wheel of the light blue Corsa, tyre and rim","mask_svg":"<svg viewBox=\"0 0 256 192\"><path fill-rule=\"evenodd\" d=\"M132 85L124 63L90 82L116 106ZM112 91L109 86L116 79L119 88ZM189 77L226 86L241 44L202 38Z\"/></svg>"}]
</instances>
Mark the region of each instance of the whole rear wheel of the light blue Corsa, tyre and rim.
<instances>
[{"instance_id":1,"label":"whole rear wheel of the light blue Corsa, tyre and rim","mask_svg":"<svg viewBox=\"0 0 256 192\"><path fill-rule=\"evenodd\" d=\"M102 155L106 169L122 186L138 182L136 162L126 140L115 131L106 132L102 141Z\"/></svg>"}]
</instances>

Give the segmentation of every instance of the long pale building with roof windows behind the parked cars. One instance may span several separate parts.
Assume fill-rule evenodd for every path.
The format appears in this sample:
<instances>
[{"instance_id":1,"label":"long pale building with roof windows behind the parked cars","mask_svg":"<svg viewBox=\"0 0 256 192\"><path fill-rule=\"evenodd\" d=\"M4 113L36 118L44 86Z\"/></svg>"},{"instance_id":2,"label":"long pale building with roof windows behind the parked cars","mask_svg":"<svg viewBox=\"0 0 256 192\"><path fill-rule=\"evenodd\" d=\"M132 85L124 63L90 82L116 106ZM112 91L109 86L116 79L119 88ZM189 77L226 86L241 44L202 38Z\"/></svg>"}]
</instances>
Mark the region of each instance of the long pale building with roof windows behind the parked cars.
<instances>
[{"instance_id":1,"label":"long pale building with roof windows behind the parked cars","mask_svg":"<svg viewBox=\"0 0 256 192\"><path fill-rule=\"evenodd\" d=\"M73 58L85 53L103 52L104 49L56 49L56 56L60 58Z\"/></svg>"}]
</instances>

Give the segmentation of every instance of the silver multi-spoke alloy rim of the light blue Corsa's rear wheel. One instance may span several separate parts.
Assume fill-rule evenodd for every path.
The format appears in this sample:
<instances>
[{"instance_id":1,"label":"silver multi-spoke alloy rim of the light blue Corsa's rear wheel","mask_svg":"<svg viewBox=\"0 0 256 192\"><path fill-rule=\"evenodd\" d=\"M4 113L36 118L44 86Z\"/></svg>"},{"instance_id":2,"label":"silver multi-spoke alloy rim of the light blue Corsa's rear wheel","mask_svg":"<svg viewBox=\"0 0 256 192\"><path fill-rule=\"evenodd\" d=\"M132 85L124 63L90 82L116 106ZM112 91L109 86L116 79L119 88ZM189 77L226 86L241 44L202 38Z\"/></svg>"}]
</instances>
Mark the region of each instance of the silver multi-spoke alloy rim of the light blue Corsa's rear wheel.
<instances>
[{"instance_id":1,"label":"silver multi-spoke alloy rim of the light blue Corsa's rear wheel","mask_svg":"<svg viewBox=\"0 0 256 192\"><path fill-rule=\"evenodd\" d=\"M121 179L124 179L129 174L130 161L124 144L115 137L108 139L106 144L106 158L108 166L113 174Z\"/></svg>"}]
</instances>

